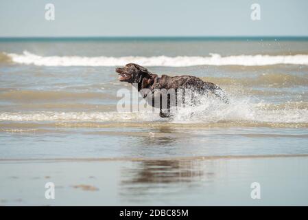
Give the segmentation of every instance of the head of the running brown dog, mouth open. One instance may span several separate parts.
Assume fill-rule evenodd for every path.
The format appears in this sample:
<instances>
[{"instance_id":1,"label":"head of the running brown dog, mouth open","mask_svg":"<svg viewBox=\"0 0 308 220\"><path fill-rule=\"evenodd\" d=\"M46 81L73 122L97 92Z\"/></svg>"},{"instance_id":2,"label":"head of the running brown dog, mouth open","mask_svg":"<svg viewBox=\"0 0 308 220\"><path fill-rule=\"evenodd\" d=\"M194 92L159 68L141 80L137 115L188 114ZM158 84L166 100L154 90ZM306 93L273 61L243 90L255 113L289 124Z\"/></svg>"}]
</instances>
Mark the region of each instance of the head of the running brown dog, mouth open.
<instances>
[{"instance_id":1,"label":"head of the running brown dog, mouth open","mask_svg":"<svg viewBox=\"0 0 308 220\"><path fill-rule=\"evenodd\" d=\"M141 67L135 63L128 63L125 67L115 69L115 72L119 74L119 80L121 82L128 83L140 83L143 77L149 77L150 72L147 68Z\"/></svg>"}]
</instances>

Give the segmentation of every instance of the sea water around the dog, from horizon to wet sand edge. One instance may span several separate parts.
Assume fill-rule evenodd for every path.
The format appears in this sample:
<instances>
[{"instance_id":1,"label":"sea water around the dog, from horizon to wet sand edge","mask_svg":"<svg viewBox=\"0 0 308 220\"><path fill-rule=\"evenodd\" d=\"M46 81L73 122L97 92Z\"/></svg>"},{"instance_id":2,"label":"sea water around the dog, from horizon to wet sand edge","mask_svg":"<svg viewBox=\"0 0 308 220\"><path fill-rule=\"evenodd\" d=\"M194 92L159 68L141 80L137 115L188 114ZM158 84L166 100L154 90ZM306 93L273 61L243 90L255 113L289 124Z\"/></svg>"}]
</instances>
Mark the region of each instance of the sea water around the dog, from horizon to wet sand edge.
<instances>
[{"instance_id":1,"label":"sea water around the dog, from horizon to wet sand edge","mask_svg":"<svg viewBox=\"0 0 308 220\"><path fill-rule=\"evenodd\" d=\"M0 51L2 158L307 153L308 41L303 39L2 40ZM211 53L222 56L216 64L195 65ZM179 110L174 120L117 112L117 91L132 89L108 66L125 64L119 56L163 62L149 67L157 74L191 74L216 83L230 104L204 98L199 107ZM158 61L162 56L185 61ZM279 56L283 61L263 64ZM287 56L304 64L285 64ZM225 65L224 58L237 65ZM257 65L246 66L251 59ZM55 153L44 153L42 142ZM166 151L141 153L158 146ZM141 151L134 153L136 148Z\"/></svg>"}]
</instances>

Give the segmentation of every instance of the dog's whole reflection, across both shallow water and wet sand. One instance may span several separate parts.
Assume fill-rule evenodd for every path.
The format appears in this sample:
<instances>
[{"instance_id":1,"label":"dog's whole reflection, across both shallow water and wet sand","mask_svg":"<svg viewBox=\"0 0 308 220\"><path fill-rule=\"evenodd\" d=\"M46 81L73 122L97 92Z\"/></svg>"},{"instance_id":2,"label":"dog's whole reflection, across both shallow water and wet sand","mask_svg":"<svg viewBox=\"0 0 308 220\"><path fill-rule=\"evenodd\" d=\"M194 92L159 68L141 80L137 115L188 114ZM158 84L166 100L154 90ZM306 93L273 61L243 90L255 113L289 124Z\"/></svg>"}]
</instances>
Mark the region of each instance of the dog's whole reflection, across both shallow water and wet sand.
<instances>
[{"instance_id":1,"label":"dog's whole reflection, across both shallow water and wet sand","mask_svg":"<svg viewBox=\"0 0 308 220\"><path fill-rule=\"evenodd\" d=\"M171 126L161 126L149 135L141 136L138 144L139 156L159 151L161 155L174 155L179 148L170 148L182 140ZM189 137L187 137L189 138ZM168 147L166 147L168 146ZM145 159L134 162L133 166L121 169L121 198L128 201L149 200L157 195L176 197L179 191L201 188L215 178L213 166L207 168L199 160L191 159Z\"/></svg>"}]
</instances>

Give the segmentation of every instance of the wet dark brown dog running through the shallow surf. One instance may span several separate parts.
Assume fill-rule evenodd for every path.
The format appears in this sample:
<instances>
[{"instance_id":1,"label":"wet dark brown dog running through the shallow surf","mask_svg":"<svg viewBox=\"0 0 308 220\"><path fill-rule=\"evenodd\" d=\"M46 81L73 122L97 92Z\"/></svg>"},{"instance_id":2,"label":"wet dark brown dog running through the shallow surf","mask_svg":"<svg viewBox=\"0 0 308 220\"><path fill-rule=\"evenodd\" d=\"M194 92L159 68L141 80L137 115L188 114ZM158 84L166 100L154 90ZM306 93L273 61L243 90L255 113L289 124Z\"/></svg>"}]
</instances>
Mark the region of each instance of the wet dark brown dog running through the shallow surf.
<instances>
[{"instance_id":1,"label":"wet dark brown dog running through the shallow surf","mask_svg":"<svg viewBox=\"0 0 308 220\"><path fill-rule=\"evenodd\" d=\"M125 67L119 67L115 69L115 72L119 74L119 81L127 82L135 85L140 92L142 89L147 89L151 94L160 89L191 89L196 94L205 95L213 94L220 98L226 104L229 103L228 98L224 94L224 91L215 85L214 83L204 82L196 76L167 76L162 75L159 77L157 74L153 74L145 67L141 67L135 63L128 63ZM143 94L145 98L147 94ZM153 96L154 97L154 96ZM160 116L162 118L169 118L170 114L170 97L167 96L167 108L163 108L160 103ZM196 103L196 100L193 100ZM152 105L154 102L152 102Z\"/></svg>"}]
</instances>

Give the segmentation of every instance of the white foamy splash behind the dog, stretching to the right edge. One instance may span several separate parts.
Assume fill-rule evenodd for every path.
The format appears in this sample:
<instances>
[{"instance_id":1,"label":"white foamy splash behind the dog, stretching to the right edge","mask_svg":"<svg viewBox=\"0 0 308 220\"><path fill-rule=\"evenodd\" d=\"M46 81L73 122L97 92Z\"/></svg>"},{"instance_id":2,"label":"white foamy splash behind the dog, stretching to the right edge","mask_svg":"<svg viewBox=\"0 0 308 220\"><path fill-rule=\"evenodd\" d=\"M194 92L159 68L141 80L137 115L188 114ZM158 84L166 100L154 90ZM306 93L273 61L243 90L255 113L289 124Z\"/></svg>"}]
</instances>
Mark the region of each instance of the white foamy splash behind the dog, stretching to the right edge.
<instances>
[{"instance_id":1,"label":"white foamy splash behind the dog, stretching to the right edge","mask_svg":"<svg viewBox=\"0 0 308 220\"><path fill-rule=\"evenodd\" d=\"M249 98L230 97L230 104L224 104L213 98L200 99L202 104L196 107L179 109L174 122L308 123L308 109L268 109L267 104L252 103Z\"/></svg>"}]
</instances>

